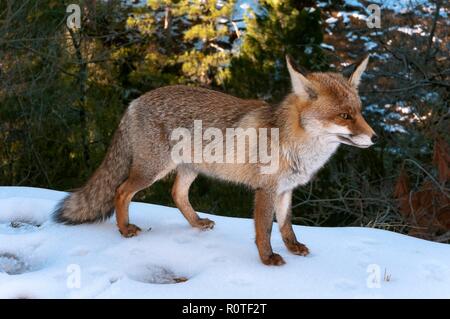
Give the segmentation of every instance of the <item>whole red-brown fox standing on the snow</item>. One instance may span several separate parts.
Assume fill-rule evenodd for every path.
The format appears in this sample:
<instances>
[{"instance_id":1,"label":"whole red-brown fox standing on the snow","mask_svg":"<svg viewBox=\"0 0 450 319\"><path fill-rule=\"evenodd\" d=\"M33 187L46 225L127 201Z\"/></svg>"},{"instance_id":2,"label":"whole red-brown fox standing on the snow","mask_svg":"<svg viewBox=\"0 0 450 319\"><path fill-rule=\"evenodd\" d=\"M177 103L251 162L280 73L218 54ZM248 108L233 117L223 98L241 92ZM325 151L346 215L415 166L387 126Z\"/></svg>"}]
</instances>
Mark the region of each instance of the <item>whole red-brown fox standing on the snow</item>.
<instances>
[{"instance_id":1,"label":"whole red-brown fox standing on the snow","mask_svg":"<svg viewBox=\"0 0 450 319\"><path fill-rule=\"evenodd\" d=\"M124 112L100 166L84 186L60 201L54 220L67 225L95 223L115 212L120 234L136 236L141 229L130 223L131 200L174 172L171 195L175 205L192 227L212 229L214 221L201 218L189 202L189 188L203 174L254 191L255 243L263 264L285 264L271 246L274 217L287 250L307 256L308 247L297 240L292 227L292 193L315 176L339 145L367 148L376 142L376 133L362 115L358 94L368 60L365 57L346 77L338 72L305 72L286 56L292 90L277 105L183 85L141 95ZM279 155L278 167L263 174L261 163L174 161L171 132L179 127L193 131L195 120L221 131L278 129L279 145L270 150Z\"/></svg>"}]
</instances>

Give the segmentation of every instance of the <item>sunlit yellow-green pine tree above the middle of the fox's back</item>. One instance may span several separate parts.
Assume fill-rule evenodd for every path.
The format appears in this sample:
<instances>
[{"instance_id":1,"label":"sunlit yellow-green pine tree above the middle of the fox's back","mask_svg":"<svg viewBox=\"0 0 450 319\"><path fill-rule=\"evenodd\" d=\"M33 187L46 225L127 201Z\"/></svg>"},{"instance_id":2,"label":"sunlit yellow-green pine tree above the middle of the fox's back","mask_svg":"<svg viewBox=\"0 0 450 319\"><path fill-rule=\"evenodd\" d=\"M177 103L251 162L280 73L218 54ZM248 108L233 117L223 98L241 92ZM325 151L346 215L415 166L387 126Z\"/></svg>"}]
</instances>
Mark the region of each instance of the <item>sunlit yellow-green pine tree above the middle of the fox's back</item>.
<instances>
[{"instance_id":1,"label":"sunlit yellow-green pine tree above the middle of the fox's back","mask_svg":"<svg viewBox=\"0 0 450 319\"><path fill-rule=\"evenodd\" d=\"M236 38L231 24L234 4L149 0L148 8L130 21L152 40L137 74L145 77L146 70L152 70L166 83L221 85Z\"/></svg>"}]
</instances>

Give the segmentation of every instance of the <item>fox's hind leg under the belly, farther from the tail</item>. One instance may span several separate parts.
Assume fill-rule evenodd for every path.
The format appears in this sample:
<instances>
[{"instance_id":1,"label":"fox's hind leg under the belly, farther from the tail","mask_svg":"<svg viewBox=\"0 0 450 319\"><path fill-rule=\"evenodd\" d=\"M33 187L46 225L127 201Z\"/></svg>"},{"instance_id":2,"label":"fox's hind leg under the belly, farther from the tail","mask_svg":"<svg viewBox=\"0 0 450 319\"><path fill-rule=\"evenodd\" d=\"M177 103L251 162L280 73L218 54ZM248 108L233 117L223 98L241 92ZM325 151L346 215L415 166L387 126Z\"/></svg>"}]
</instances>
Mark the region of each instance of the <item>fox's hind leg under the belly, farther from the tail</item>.
<instances>
[{"instance_id":1,"label":"fox's hind leg under the belly, farther from the tail","mask_svg":"<svg viewBox=\"0 0 450 319\"><path fill-rule=\"evenodd\" d=\"M189 202L189 188L197 175L192 170L184 168L177 170L177 176L172 187L173 201L192 227L202 230L212 229L214 222L208 218L200 218Z\"/></svg>"}]
</instances>

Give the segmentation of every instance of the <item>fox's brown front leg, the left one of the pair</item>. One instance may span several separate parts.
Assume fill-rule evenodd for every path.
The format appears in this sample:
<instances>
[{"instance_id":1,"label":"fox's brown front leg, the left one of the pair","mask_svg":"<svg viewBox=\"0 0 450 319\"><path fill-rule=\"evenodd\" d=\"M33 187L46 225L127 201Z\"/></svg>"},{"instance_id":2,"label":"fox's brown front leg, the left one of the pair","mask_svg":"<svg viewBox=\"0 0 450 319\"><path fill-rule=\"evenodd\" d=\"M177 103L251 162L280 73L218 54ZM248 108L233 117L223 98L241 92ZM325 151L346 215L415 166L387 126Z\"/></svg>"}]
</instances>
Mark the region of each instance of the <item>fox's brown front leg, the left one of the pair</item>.
<instances>
[{"instance_id":1,"label":"fox's brown front leg, the left one of the pair","mask_svg":"<svg viewBox=\"0 0 450 319\"><path fill-rule=\"evenodd\" d=\"M275 210L276 194L264 189L255 192L255 229L256 246L259 257L265 265L280 266L285 264L283 258L272 251L270 235L272 233L273 213Z\"/></svg>"}]
</instances>

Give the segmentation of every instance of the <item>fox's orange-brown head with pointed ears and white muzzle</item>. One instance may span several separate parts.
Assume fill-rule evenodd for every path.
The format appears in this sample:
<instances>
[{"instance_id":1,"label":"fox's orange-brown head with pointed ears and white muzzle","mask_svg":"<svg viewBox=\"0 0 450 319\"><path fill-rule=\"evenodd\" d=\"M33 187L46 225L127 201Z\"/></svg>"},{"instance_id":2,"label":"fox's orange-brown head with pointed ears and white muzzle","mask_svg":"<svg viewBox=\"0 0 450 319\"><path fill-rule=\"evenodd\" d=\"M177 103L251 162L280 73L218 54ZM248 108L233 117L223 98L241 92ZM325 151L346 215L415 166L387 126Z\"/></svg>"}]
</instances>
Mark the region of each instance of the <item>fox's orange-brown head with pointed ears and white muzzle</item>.
<instances>
[{"instance_id":1,"label":"fox's orange-brown head with pointed ears and white muzzle","mask_svg":"<svg viewBox=\"0 0 450 319\"><path fill-rule=\"evenodd\" d=\"M293 68L289 58L286 60L293 93L298 98L300 124L307 133L361 148L376 142L377 135L362 116L358 95L369 57L348 79L331 72L303 75Z\"/></svg>"}]
</instances>

